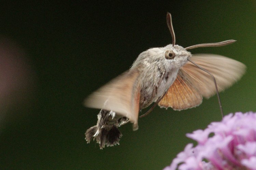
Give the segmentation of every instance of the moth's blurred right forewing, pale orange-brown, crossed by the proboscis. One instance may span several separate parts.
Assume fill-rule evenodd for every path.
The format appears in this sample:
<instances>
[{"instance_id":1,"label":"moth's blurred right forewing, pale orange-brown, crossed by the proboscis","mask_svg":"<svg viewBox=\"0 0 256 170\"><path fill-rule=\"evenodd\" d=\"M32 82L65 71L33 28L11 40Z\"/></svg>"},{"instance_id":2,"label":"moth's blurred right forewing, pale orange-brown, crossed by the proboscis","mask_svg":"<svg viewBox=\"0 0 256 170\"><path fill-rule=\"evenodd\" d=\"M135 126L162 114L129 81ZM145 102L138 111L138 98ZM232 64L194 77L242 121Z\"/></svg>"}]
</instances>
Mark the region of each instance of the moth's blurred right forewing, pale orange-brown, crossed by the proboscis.
<instances>
[{"instance_id":1,"label":"moth's blurred right forewing, pale orange-brown, crossed by the proboscis","mask_svg":"<svg viewBox=\"0 0 256 170\"><path fill-rule=\"evenodd\" d=\"M246 69L241 62L215 54L195 54L190 60L213 74L219 91L223 91L238 81ZM181 70L189 75L188 80L203 97L210 98L216 93L214 82L207 72L191 62L187 62Z\"/></svg>"}]
</instances>

